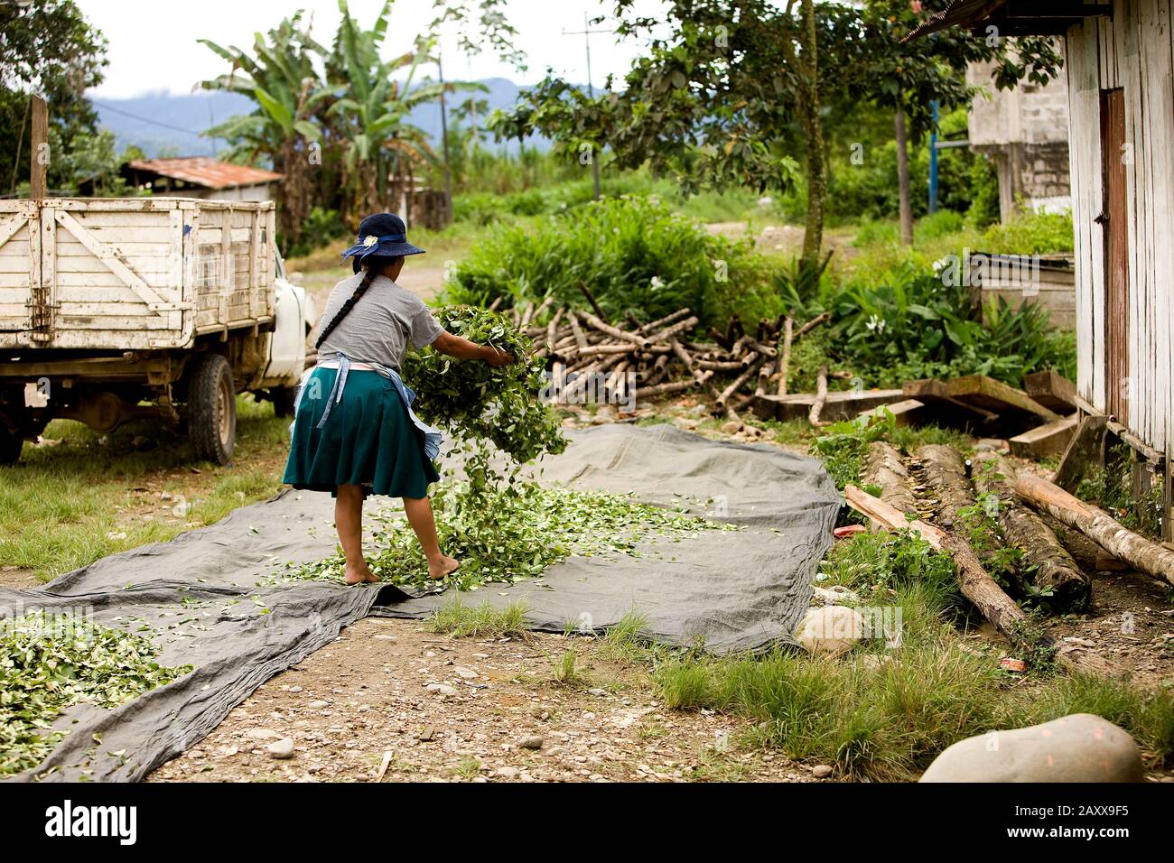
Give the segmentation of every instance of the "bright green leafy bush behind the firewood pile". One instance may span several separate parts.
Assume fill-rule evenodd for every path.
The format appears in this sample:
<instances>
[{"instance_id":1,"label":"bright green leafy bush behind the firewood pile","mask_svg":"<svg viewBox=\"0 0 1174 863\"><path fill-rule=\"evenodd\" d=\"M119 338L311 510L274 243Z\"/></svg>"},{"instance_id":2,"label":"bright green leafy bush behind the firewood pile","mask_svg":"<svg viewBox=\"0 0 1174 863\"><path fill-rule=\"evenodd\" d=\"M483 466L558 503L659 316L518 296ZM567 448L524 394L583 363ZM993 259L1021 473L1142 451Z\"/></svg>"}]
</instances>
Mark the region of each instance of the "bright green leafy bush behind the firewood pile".
<instances>
[{"instance_id":1,"label":"bright green leafy bush behind the firewood pile","mask_svg":"<svg viewBox=\"0 0 1174 863\"><path fill-rule=\"evenodd\" d=\"M778 311L770 264L750 241L711 236L703 225L641 197L605 198L544 220L535 229L493 229L461 262L444 302L488 304L556 299L582 305L580 279L603 310L652 321L689 306L703 324L737 311Z\"/></svg>"}]
</instances>

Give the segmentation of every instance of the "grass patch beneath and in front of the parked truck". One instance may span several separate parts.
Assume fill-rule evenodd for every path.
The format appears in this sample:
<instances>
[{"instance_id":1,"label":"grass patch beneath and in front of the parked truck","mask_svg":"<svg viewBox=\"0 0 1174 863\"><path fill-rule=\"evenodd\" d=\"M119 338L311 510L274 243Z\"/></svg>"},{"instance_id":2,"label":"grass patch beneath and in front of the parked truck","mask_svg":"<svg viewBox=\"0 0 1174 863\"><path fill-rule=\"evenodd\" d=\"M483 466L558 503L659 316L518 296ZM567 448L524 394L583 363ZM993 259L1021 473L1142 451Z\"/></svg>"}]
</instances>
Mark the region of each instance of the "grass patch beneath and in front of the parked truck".
<instances>
[{"instance_id":1,"label":"grass patch beneath and in front of the parked truck","mask_svg":"<svg viewBox=\"0 0 1174 863\"><path fill-rule=\"evenodd\" d=\"M157 423L103 436L55 420L42 437L60 443L26 445L18 464L0 467L0 566L48 581L265 500L282 487L288 429L271 405L239 397L234 463L221 467Z\"/></svg>"}]
</instances>

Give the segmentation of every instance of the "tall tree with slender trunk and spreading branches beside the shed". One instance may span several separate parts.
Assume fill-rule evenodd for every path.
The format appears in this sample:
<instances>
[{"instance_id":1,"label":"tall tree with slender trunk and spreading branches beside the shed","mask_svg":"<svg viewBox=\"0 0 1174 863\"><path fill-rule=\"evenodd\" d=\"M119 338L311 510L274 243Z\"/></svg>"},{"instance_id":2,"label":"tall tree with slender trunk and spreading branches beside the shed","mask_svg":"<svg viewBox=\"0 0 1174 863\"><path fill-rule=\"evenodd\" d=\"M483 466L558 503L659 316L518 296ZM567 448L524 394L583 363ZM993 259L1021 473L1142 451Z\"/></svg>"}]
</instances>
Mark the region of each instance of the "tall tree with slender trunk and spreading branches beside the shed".
<instances>
[{"instance_id":1,"label":"tall tree with slender trunk and spreading branches beside the shed","mask_svg":"<svg viewBox=\"0 0 1174 863\"><path fill-rule=\"evenodd\" d=\"M788 190L802 167L808 191L803 259L818 262L828 139L851 130L823 126L835 103L902 106L913 135L929 128L930 102L970 97L972 60L998 63L996 83L1046 80L1059 58L1046 40L987 40L970 33L904 42L945 0L915 12L900 0L669 0L656 16L615 0L616 33L649 41L622 88L608 81L588 99L547 76L518 106L492 120L504 137L539 133L567 154L603 147L620 167L647 163L686 193L729 186ZM666 21L668 26L666 27Z\"/></svg>"}]
</instances>

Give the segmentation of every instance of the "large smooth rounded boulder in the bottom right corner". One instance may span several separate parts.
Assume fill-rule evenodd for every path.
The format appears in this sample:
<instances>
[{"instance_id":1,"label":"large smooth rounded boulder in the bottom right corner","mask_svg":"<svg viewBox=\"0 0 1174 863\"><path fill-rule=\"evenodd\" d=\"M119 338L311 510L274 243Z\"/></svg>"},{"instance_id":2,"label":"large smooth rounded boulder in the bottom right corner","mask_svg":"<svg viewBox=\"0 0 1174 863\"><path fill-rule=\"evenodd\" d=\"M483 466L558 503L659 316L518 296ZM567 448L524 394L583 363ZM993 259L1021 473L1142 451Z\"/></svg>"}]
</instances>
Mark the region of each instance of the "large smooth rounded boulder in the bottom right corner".
<instances>
[{"instance_id":1,"label":"large smooth rounded boulder in the bottom right corner","mask_svg":"<svg viewBox=\"0 0 1174 863\"><path fill-rule=\"evenodd\" d=\"M922 776L922 782L1141 781L1133 737L1088 713L959 741Z\"/></svg>"}]
</instances>

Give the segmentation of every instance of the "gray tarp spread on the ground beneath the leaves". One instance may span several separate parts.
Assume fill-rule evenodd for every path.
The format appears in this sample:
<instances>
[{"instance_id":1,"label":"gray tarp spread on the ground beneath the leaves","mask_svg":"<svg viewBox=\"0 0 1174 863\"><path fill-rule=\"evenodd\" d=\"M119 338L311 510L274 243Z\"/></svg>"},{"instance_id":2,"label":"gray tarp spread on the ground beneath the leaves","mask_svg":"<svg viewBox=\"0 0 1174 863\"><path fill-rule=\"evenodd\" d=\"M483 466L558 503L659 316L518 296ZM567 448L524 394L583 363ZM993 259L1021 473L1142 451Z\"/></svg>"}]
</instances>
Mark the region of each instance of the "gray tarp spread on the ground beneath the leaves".
<instances>
[{"instance_id":1,"label":"gray tarp spread on the ground beneath the leaves","mask_svg":"<svg viewBox=\"0 0 1174 863\"><path fill-rule=\"evenodd\" d=\"M673 506L693 500L694 511L744 530L657 539L635 558L572 558L546 572L545 586L486 585L471 600L522 600L537 629L561 632L571 621L605 628L635 608L648 616L652 635L672 643L700 639L724 652L794 641L839 506L819 463L668 425L608 425L576 432L566 453L545 459L542 468L547 480L575 487ZM445 601L392 587L264 584L274 564L322 559L335 542L331 498L286 491L170 542L97 560L42 589L0 588L0 615L5 608L83 609L97 623L149 627L163 665L196 666L117 709L69 709L55 724L69 734L19 778L76 780L83 768L95 780L141 778L342 627L369 614L424 616Z\"/></svg>"}]
</instances>

